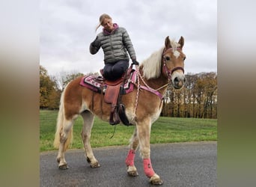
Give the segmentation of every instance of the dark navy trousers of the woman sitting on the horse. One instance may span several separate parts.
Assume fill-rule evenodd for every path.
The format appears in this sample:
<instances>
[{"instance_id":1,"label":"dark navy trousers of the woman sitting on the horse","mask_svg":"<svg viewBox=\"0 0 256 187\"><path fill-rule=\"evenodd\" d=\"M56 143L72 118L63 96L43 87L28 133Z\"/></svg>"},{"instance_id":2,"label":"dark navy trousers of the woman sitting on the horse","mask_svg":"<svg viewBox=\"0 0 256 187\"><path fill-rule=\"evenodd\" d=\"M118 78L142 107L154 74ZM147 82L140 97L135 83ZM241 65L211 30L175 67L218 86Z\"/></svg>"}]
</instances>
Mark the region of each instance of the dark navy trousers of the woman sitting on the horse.
<instances>
[{"instance_id":1,"label":"dark navy trousers of the woman sitting on the horse","mask_svg":"<svg viewBox=\"0 0 256 187\"><path fill-rule=\"evenodd\" d=\"M129 67L129 61L117 61L116 63L105 64L103 68L103 77L109 81L115 81L126 72Z\"/></svg>"}]
</instances>

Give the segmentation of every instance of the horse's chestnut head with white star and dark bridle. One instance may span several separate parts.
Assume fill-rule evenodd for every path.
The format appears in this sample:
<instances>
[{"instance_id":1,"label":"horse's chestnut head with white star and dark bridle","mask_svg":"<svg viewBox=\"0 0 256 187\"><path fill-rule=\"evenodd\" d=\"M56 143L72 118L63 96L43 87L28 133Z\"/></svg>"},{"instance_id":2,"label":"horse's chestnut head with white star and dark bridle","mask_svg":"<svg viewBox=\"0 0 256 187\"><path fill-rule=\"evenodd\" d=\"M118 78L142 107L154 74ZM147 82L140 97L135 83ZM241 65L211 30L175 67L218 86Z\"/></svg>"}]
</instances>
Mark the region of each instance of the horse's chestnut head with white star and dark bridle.
<instances>
[{"instance_id":1,"label":"horse's chestnut head with white star and dark bridle","mask_svg":"<svg viewBox=\"0 0 256 187\"><path fill-rule=\"evenodd\" d=\"M184 60L186 55L182 52L184 38L180 37L178 43L165 38L165 49L162 53L162 73L171 79L175 89L180 89L186 82L184 75Z\"/></svg>"}]
</instances>

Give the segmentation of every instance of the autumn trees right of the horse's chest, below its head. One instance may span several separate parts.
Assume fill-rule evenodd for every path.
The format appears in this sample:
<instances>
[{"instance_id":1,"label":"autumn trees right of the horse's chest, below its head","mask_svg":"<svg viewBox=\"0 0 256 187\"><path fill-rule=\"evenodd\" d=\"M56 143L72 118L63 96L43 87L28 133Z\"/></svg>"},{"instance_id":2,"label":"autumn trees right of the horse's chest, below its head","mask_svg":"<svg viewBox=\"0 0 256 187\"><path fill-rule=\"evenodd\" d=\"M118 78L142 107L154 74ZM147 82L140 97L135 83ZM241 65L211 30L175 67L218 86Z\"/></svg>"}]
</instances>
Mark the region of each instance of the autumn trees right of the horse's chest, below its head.
<instances>
[{"instance_id":1,"label":"autumn trees right of the horse's chest, below its head","mask_svg":"<svg viewBox=\"0 0 256 187\"><path fill-rule=\"evenodd\" d=\"M217 73L186 74L184 88L168 87L162 116L217 118Z\"/></svg>"}]
</instances>

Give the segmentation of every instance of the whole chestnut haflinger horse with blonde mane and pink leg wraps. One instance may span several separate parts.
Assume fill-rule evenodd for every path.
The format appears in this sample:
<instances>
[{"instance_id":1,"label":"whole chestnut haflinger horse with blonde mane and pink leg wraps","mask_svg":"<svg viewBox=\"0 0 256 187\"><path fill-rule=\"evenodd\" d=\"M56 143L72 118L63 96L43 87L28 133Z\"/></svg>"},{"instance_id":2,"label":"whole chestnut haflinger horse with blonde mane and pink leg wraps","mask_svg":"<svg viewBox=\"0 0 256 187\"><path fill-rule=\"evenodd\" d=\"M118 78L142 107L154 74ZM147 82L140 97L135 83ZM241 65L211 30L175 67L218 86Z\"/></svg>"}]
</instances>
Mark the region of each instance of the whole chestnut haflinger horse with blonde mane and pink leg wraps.
<instances>
[{"instance_id":1,"label":"whole chestnut haflinger horse with blonde mane and pink leg wraps","mask_svg":"<svg viewBox=\"0 0 256 187\"><path fill-rule=\"evenodd\" d=\"M121 102L126 107L127 119L135 126L125 160L127 174L132 177L138 176L134 159L135 150L139 147L144 174L153 185L162 185L162 180L153 170L150 161L150 129L162 111L163 96L168 85L180 89L186 82L183 69L186 56L182 51L183 45L183 37L180 37L178 43L166 37L165 46L135 66L138 76L134 82L135 89L121 97ZM102 101L101 93L95 93L79 85L80 80L81 77L71 81L61 94L54 141L54 146L58 148L57 161L60 169L68 168L64 152L72 141L73 123L79 114L84 120L81 135L85 157L91 168L100 167L91 149L91 129L95 115L102 120L109 120L111 105Z\"/></svg>"}]
</instances>

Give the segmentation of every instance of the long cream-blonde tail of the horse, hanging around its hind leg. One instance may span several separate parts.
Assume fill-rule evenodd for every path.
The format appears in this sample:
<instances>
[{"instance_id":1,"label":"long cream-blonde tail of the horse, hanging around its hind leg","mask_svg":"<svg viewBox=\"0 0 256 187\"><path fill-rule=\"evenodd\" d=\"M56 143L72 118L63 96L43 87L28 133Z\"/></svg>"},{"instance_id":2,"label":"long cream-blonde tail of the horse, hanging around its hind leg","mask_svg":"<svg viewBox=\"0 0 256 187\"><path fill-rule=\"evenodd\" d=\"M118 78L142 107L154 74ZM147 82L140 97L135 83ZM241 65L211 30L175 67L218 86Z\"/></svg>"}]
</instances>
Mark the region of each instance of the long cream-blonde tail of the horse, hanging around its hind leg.
<instances>
[{"instance_id":1,"label":"long cream-blonde tail of the horse, hanging around its hind leg","mask_svg":"<svg viewBox=\"0 0 256 187\"><path fill-rule=\"evenodd\" d=\"M67 86L66 86L67 88ZM61 93L61 103L60 103L60 107L58 110L58 118L57 118L57 123L56 123L56 131L55 131L55 138L54 138L54 142L53 142L53 146L58 149L59 145L60 145L60 133L61 130L63 129L63 124L64 124L64 93L65 90L64 89L63 93ZM73 141L73 126L70 129L70 132L67 135L67 141L64 144L64 150L67 150L67 148L69 147L69 145L71 144L71 142Z\"/></svg>"}]
</instances>

